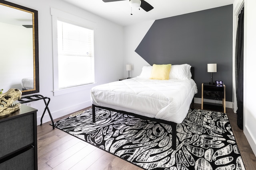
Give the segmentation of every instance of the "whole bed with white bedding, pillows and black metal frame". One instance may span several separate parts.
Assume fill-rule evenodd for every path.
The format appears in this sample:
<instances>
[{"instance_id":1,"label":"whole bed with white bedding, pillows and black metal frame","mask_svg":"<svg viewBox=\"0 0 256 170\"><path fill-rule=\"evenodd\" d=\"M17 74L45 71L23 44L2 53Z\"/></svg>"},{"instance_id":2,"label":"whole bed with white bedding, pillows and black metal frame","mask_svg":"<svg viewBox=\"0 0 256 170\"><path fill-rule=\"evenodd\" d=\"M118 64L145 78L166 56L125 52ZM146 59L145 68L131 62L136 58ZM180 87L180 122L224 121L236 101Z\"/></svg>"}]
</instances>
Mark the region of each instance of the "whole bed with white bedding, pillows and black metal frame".
<instances>
[{"instance_id":1,"label":"whole bed with white bedding, pillows and black metal frame","mask_svg":"<svg viewBox=\"0 0 256 170\"><path fill-rule=\"evenodd\" d=\"M91 90L93 122L95 107L136 115L172 126L172 148L176 150L176 126L186 117L197 86L189 64L169 65L164 72L144 66L140 76L95 86ZM164 64L167 65L167 64ZM168 67L167 67L168 68ZM156 78L152 77L156 73ZM165 76L161 76L166 74ZM158 76L160 75L160 77Z\"/></svg>"}]
</instances>

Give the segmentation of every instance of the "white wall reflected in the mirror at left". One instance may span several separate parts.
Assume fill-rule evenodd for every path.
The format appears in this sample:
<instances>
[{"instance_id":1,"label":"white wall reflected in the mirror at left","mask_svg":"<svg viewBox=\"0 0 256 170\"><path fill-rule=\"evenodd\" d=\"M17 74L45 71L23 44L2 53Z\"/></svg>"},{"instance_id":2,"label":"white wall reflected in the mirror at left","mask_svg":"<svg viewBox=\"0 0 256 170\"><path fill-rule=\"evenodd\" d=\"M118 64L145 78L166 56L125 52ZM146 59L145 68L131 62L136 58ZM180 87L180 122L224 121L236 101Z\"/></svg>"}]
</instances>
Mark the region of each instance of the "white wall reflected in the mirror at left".
<instances>
[{"instance_id":1,"label":"white wall reflected in the mirror at left","mask_svg":"<svg viewBox=\"0 0 256 170\"><path fill-rule=\"evenodd\" d=\"M22 78L33 77L32 28L0 22L0 29L0 89L22 90Z\"/></svg>"}]
</instances>

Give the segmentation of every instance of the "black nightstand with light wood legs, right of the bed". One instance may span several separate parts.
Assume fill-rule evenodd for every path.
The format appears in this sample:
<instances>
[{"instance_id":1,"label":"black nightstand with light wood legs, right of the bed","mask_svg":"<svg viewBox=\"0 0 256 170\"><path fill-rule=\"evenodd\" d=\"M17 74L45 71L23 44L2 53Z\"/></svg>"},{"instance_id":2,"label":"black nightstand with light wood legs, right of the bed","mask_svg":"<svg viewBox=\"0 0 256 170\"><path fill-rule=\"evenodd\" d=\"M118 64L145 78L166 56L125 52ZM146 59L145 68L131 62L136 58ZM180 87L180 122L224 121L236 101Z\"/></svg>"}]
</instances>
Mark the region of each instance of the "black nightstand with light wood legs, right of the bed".
<instances>
[{"instance_id":1,"label":"black nightstand with light wood legs, right of the bed","mask_svg":"<svg viewBox=\"0 0 256 170\"><path fill-rule=\"evenodd\" d=\"M204 107L204 98L212 100L222 100L222 107L226 113L226 86L216 86L215 84L202 83L202 104L201 109Z\"/></svg>"}]
</instances>

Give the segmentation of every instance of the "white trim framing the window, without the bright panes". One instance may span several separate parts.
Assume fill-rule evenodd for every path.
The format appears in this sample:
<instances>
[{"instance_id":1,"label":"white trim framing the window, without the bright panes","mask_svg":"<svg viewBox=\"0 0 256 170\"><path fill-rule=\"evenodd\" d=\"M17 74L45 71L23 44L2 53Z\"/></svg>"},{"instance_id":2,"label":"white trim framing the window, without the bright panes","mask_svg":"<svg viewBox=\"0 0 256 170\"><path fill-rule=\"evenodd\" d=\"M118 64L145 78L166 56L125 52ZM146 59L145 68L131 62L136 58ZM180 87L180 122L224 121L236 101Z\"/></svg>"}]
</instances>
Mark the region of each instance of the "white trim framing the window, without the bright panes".
<instances>
[{"instance_id":1,"label":"white trim framing the window, without the bright panes","mask_svg":"<svg viewBox=\"0 0 256 170\"><path fill-rule=\"evenodd\" d=\"M58 30L57 30L57 21L58 20L66 20L69 23L74 23L74 25L86 25L88 29L95 30L96 23L92 21L85 20L84 18L80 18L78 16L74 16L72 14L68 14L66 12L56 10L51 8L52 15L52 51L53 51L53 84L54 84L54 96L68 94L72 92L77 92L80 90L89 90L95 86L95 83L92 84L84 84L80 86L74 86L70 88L59 89L59 78L58 78Z\"/></svg>"}]
</instances>

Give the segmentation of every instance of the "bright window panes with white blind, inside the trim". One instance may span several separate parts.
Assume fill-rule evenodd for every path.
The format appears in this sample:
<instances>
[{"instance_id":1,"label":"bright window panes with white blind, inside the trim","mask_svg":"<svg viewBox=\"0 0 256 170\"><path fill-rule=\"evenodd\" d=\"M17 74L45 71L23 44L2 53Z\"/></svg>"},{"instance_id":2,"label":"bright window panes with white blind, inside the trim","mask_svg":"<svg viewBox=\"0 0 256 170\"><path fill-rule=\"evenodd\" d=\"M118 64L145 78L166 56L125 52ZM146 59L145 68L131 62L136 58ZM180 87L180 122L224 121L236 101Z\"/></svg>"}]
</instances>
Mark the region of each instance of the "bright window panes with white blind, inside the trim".
<instances>
[{"instance_id":1,"label":"bright window panes with white blind, inside the trim","mask_svg":"<svg viewBox=\"0 0 256 170\"><path fill-rule=\"evenodd\" d=\"M59 89L94 83L93 30L58 20Z\"/></svg>"}]
</instances>

